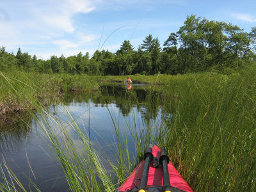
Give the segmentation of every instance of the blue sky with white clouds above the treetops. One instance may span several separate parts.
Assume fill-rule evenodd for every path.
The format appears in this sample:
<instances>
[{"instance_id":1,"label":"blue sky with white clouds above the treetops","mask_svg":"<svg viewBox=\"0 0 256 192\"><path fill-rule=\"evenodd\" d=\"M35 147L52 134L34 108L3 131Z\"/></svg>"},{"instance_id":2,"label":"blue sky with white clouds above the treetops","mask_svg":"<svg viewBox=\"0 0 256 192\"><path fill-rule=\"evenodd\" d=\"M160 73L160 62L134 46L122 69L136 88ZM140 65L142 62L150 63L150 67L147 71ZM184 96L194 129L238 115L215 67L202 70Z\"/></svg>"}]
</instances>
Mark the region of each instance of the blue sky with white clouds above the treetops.
<instances>
[{"instance_id":1,"label":"blue sky with white clouds above the treetops","mask_svg":"<svg viewBox=\"0 0 256 192\"><path fill-rule=\"evenodd\" d=\"M163 46L186 17L256 26L256 0L0 0L0 47L47 60L116 52L124 40L133 47L151 34Z\"/></svg>"}]
</instances>

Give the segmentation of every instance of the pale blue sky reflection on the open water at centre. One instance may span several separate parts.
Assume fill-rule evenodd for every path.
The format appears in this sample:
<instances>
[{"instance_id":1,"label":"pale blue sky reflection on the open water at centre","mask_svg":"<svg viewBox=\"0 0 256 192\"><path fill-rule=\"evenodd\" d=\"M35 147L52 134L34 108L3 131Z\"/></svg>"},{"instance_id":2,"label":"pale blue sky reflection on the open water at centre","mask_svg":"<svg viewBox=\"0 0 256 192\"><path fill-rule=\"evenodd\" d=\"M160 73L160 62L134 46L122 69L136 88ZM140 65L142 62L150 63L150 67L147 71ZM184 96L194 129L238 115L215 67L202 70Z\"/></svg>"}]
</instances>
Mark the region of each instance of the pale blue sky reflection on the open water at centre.
<instances>
[{"instance_id":1,"label":"pale blue sky reflection on the open water at centre","mask_svg":"<svg viewBox=\"0 0 256 192\"><path fill-rule=\"evenodd\" d=\"M62 122L63 126L67 126L67 122L72 121L67 113L63 113L63 111L68 111L84 133L88 134L90 127L90 138L92 141L99 141L100 138L104 138L104 140L109 141L109 143L113 143L115 140L115 127L113 121L119 128L120 134L129 132L127 127L131 128L131 119L132 122L134 122L134 120L136 121L138 127L143 124L141 115L136 108L131 109L129 116L123 116L120 109L116 107L116 104L108 104L108 108L106 108L92 102L89 104L71 103L68 106L57 106L55 110L56 118ZM73 134L73 137L76 137L71 127L67 126L67 131L70 134ZM131 138L131 136L127 136Z\"/></svg>"}]
</instances>

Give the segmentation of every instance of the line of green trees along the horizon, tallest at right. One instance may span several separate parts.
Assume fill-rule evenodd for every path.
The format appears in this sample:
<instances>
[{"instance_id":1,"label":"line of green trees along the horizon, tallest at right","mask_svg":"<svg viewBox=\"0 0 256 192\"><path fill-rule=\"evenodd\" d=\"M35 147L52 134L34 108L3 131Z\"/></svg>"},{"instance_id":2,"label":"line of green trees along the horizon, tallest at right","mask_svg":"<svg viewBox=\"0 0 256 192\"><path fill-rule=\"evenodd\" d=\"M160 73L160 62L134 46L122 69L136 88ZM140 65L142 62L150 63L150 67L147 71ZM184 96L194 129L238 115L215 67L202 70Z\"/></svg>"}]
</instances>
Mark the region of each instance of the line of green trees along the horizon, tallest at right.
<instances>
[{"instance_id":1,"label":"line of green trees along the horizon, tallest at right","mask_svg":"<svg viewBox=\"0 0 256 192\"><path fill-rule=\"evenodd\" d=\"M163 47L148 35L134 50L129 40L124 40L116 52L97 50L65 58L51 56L40 60L22 53L8 53L0 47L0 70L19 68L28 72L69 73L95 75L127 74L184 74L204 70L239 68L256 59L256 27L250 33L226 22L187 16L176 33L170 33Z\"/></svg>"}]
</instances>

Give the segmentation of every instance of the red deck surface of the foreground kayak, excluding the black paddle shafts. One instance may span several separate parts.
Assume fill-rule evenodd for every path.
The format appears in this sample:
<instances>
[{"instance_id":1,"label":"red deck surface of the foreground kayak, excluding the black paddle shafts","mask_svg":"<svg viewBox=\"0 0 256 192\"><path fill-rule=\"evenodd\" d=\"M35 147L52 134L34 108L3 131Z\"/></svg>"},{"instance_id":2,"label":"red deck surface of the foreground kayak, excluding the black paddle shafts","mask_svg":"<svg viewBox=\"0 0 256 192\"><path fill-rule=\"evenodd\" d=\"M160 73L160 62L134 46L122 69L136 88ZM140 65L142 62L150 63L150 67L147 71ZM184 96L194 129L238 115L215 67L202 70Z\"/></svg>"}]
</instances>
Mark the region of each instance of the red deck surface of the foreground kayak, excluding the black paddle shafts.
<instances>
[{"instance_id":1,"label":"red deck surface of the foreground kayak, excluding the black paddle shafts","mask_svg":"<svg viewBox=\"0 0 256 192\"><path fill-rule=\"evenodd\" d=\"M152 148L152 154L154 157L161 157L161 150L159 147L155 145ZM129 177L127 177L125 182L120 186L120 188L118 188L118 191L131 191L132 189L136 189L136 186L140 187L140 179L143 173L144 164L144 160L138 164ZM179 172L177 172L172 163L168 163L168 172L170 184L174 188L172 191L193 191ZM161 165L159 168L154 168L152 165L150 165L147 180L147 187L149 186L163 186L163 169ZM175 188L177 188L177 190Z\"/></svg>"}]
</instances>

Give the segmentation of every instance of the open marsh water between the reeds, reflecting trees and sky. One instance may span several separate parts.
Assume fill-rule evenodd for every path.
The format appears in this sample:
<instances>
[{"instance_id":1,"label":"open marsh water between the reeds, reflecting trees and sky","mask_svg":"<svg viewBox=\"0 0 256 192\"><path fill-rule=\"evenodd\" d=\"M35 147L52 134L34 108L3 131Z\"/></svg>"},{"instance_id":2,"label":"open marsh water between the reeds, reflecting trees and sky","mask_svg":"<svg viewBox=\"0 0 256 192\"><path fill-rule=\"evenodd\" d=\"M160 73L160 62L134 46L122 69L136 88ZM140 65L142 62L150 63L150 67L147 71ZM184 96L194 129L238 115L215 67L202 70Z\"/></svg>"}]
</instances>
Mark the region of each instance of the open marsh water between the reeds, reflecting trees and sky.
<instances>
[{"instance_id":1,"label":"open marsh water between the reeds, reflecting trees and sky","mask_svg":"<svg viewBox=\"0 0 256 192\"><path fill-rule=\"evenodd\" d=\"M149 107L150 90L152 88L148 85L116 84L102 86L100 93L65 93L59 104L49 107L49 113L63 126L71 122L68 117L70 113L84 132L90 132L92 142L99 143L103 149L108 150L102 138L108 143L115 142L111 116L120 127L120 134L129 132L126 127L132 127L133 125L129 124L134 124L134 119L139 126L143 126L145 122L157 124L161 107L158 103ZM170 118L170 115L166 116ZM24 174L31 178L41 191L68 191L67 181L51 150L45 145L44 133L35 118L29 115L21 118L22 120L13 121L11 125L1 124L0 151L6 163L26 189L35 191L29 186ZM70 128L67 126L67 129ZM71 130L70 134L76 139L76 134ZM129 147L134 148L132 137L128 134L127 138Z\"/></svg>"}]
</instances>

